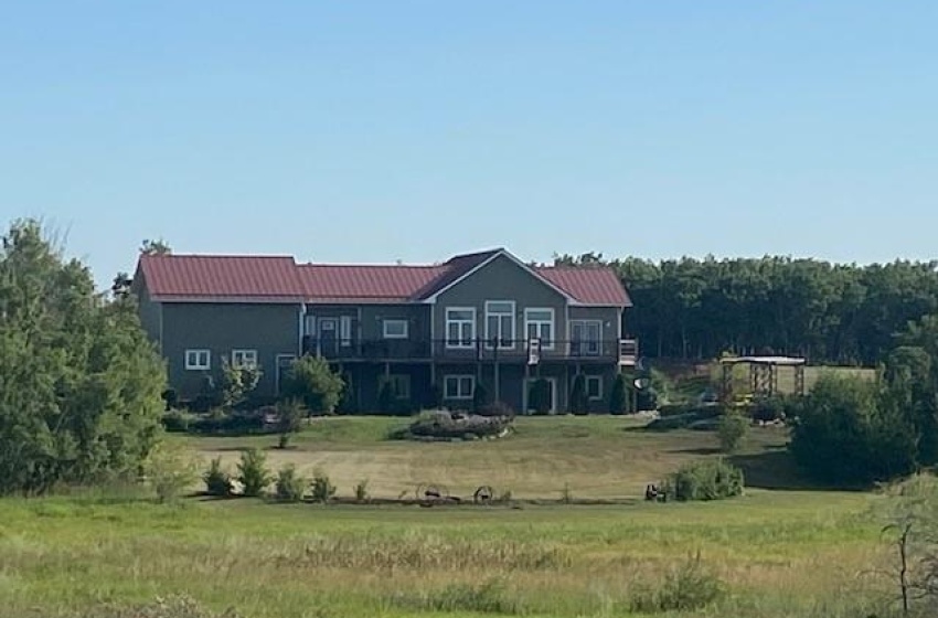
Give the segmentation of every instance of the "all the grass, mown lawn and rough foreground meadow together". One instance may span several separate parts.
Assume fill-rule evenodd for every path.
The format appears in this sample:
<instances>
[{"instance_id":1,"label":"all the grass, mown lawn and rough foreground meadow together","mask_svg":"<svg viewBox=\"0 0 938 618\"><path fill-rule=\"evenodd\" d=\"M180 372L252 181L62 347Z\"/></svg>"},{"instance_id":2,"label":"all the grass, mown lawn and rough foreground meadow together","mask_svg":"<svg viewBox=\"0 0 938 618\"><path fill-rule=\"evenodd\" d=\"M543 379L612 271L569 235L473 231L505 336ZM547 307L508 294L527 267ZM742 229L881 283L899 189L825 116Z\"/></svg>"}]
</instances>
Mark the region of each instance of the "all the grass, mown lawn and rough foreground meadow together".
<instances>
[{"instance_id":1,"label":"all the grass, mown lawn and rough foreground meadow together","mask_svg":"<svg viewBox=\"0 0 938 618\"><path fill-rule=\"evenodd\" d=\"M766 487L714 503L636 498L683 461L714 456L713 436L652 434L616 417L522 418L504 440L385 441L401 423L317 422L275 465L324 469L349 496L361 478L396 498L434 481L537 500L510 507L286 505L186 499L160 505L107 494L0 501L0 616L73 616L106 604L185 594L246 617L631 616L637 598L700 552L725 594L668 616L865 616L882 556L863 493L811 490L755 431L737 461ZM233 461L274 437L186 438ZM574 498L609 505L561 504ZM118 616L99 610L94 616ZM127 615L129 618L130 615ZM134 615L135 618L137 615ZM182 615L189 618L189 615Z\"/></svg>"}]
</instances>

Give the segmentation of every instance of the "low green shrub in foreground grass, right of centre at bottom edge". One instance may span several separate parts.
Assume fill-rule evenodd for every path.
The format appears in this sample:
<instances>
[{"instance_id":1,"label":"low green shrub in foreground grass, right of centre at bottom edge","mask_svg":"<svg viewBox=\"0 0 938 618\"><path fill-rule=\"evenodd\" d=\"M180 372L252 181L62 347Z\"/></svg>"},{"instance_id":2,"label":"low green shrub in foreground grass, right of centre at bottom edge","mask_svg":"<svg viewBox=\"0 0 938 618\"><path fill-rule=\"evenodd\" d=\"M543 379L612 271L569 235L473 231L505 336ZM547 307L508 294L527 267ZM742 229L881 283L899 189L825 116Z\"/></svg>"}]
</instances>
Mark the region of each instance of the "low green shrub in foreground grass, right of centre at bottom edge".
<instances>
[{"instance_id":1,"label":"low green shrub in foreground grass, right of centre at bottom edge","mask_svg":"<svg viewBox=\"0 0 938 618\"><path fill-rule=\"evenodd\" d=\"M700 553L664 576L658 590L646 590L632 598L632 611L697 611L717 601L726 588L713 572L701 563Z\"/></svg>"}]
</instances>

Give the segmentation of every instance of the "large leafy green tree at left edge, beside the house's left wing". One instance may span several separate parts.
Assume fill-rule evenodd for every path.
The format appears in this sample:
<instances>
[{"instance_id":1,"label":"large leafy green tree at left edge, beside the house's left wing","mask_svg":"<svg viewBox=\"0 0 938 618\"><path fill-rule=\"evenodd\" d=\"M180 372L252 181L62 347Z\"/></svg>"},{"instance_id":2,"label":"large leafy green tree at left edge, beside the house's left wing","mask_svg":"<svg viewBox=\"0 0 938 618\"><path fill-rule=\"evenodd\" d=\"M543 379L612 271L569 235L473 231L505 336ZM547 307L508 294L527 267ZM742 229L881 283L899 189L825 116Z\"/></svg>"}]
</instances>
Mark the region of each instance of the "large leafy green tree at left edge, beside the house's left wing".
<instances>
[{"instance_id":1,"label":"large leafy green tree at left edge, beside the house's left wing","mask_svg":"<svg viewBox=\"0 0 938 618\"><path fill-rule=\"evenodd\" d=\"M136 478L164 387L134 299L108 301L38 222L14 222L0 253L0 493Z\"/></svg>"}]
</instances>

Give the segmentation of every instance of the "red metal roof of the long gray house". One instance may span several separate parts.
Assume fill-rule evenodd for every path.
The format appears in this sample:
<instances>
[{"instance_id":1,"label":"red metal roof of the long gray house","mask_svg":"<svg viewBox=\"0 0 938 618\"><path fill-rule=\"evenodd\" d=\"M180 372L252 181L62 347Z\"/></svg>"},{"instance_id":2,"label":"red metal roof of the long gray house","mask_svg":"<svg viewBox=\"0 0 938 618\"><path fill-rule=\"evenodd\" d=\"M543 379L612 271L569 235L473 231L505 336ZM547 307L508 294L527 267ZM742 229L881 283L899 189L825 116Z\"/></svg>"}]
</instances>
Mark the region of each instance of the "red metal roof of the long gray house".
<instances>
[{"instance_id":1,"label":"red metal roof of the long gray house","mask_svg":"<svg viewBox=\"0 0 938 618\"><path fill-rule=\"evenodd\" d=\"M156 300L270 302L408 302L452 284L502 249L451 258L438 266L298 265L283 256L141 256ZM535 274L584 305L630 307L610 268L537 267Z\"/></svg>"}]
</instances>

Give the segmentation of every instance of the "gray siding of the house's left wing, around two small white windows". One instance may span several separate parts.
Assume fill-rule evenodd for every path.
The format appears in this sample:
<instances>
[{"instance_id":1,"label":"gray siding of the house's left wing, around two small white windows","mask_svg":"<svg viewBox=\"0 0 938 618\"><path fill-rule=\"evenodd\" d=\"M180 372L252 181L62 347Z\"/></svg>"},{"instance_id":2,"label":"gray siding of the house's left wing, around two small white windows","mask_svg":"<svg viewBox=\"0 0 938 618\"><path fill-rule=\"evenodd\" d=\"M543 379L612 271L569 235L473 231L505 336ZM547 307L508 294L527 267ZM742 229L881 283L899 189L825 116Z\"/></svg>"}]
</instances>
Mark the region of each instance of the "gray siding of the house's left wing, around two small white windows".
<instances>
[{"instance_id":1,"label":"gray siding of the house's left wing, around two small white windows","mask_svg":"<svg viewBox=\"0 0 938 618\"><path fill-rule=\"evenodd\" d=\"M204 372L185 369L185 350L212 353L211 373L217 381L222 358L234 349L257 350L264 372L259 395L273 395L277 354L299 353L299 305L163 303L163 356L170 384L182 397L202 388Z\"/></svg>"}]
</instances>

